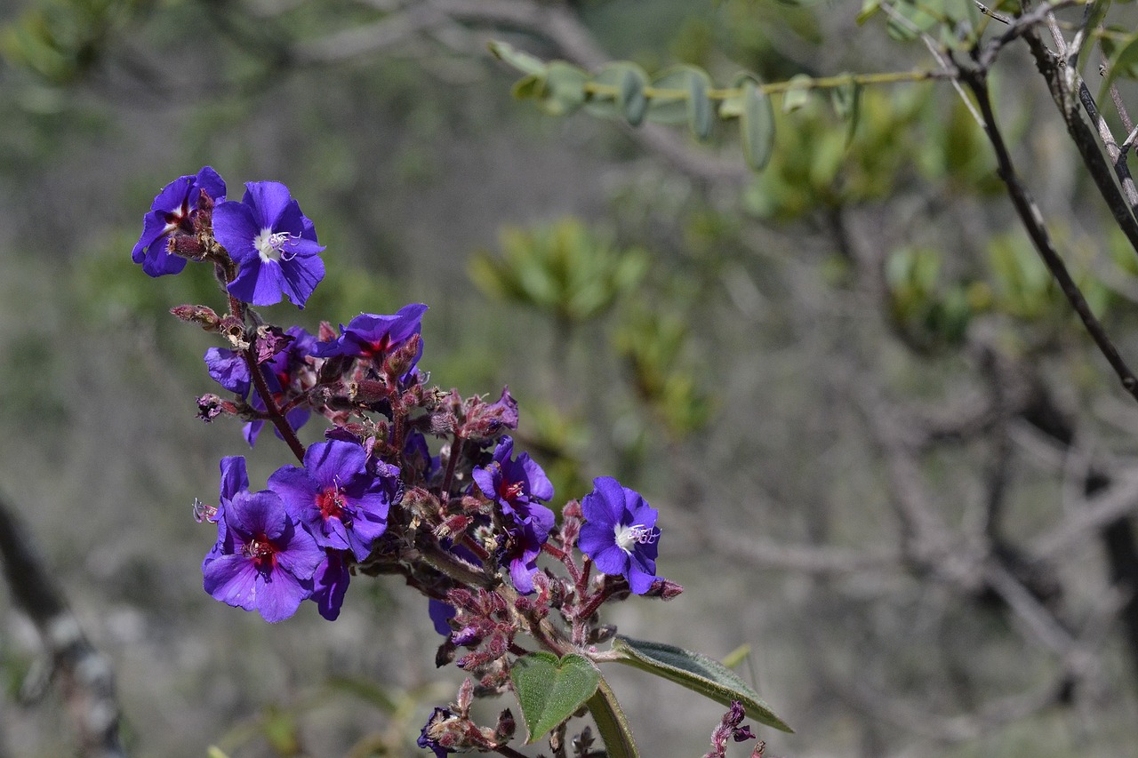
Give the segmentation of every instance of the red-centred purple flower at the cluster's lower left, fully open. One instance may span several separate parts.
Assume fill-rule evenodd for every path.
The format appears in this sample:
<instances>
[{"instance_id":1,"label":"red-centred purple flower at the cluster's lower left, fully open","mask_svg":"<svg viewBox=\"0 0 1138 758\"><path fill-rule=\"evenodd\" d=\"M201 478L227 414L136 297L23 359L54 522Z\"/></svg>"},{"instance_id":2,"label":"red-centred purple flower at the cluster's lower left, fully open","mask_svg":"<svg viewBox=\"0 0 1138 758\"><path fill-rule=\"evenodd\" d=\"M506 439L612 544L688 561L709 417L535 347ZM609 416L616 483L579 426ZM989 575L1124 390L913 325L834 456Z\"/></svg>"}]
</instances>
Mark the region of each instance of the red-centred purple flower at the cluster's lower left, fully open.
<instances>
[{"instance_id":1,"label":"red-centred purple flower at the cluster's lower left, fully open","mask_svg":"<svg viewBox=\"0 0 1138 758\"><path fill-rule=\"evenodd\" d=\"M228 472L230 485L239 483L240 473ZM217 544L201 567L205 591L234 608L256 610L266 621L295 613L312 594L324 551L267 489L233 493L224 501L222 519Z\"/></svg>"}]
</instances>

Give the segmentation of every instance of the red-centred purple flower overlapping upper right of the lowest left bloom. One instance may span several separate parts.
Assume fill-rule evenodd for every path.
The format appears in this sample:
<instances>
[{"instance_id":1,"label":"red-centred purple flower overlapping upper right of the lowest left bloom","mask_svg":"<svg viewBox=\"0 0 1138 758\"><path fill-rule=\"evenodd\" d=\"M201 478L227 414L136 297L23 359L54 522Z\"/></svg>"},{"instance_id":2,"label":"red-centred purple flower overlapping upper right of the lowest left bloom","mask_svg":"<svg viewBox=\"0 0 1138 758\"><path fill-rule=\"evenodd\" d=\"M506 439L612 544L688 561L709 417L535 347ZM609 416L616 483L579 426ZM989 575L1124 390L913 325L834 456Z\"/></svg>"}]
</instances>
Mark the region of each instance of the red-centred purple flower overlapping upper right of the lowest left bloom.
<instances>
[{"instance_id":1,"label":"red-centred purple flower overlapping upper right of the lowest left bloom","mask_svg":"<svg viewBox=\"0 0 1138 758\"><path fill-rule=\"evenodd\" d=\"M318 544L351 550L362 561L387 528L398 479L369 472L360 445L331 439L308 447L303 469L277 469L269 487L295 510Z\"/></svg>"}]
</instances>

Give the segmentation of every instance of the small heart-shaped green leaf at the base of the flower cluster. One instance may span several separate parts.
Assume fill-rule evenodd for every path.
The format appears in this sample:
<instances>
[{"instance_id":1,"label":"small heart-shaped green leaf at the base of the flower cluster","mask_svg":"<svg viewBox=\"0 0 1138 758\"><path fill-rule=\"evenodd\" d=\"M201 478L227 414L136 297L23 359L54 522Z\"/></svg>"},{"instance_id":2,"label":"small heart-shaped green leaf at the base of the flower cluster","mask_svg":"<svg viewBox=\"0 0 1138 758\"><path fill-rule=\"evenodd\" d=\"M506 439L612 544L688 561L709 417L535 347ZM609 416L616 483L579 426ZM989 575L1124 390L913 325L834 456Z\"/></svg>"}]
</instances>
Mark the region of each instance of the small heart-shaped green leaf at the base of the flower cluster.
<instances>
[{"instance_id":1,"label":"small heart-shaped green leaf at the base of the flower cluster","mask_svg":"<svg viewBox=\"0 0 1138 758\"><path fill-rule=\"evenodd\" d=\"M526 744L549 734L593 697L601 672L584 656L569 653L558 659L539 651L522 656L510 670L521 715L529 730Z\"/></svg>"}]
</instances>

